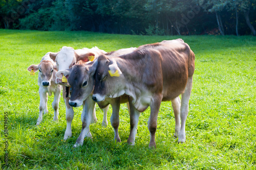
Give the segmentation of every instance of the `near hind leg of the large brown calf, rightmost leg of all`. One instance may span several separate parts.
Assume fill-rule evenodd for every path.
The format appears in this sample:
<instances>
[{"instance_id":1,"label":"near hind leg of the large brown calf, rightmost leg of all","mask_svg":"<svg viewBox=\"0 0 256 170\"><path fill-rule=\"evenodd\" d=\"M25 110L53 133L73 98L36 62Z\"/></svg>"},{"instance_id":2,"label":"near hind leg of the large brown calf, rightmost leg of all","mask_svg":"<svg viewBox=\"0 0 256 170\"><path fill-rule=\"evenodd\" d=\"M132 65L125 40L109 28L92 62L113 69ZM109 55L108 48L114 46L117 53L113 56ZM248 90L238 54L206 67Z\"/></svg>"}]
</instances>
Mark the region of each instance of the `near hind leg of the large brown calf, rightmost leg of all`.
<instances>
[{"instance_id":1,"label":"near hind leg of the large brown calf, rightmost leg of all","mask_svg":"<svg viewBox=\"0 0 256 170\"><path fill-rule=\"evenodd\" d=\"M192 89L193 77L189 77L187 80L187 85L185 92L181 95L181 107L180 107L180 118L181 118L181 128L179 133L178 142L185 142L186 134L185 134L185 125L188 113L188 102Z\"/></svg>"}]
</instances>

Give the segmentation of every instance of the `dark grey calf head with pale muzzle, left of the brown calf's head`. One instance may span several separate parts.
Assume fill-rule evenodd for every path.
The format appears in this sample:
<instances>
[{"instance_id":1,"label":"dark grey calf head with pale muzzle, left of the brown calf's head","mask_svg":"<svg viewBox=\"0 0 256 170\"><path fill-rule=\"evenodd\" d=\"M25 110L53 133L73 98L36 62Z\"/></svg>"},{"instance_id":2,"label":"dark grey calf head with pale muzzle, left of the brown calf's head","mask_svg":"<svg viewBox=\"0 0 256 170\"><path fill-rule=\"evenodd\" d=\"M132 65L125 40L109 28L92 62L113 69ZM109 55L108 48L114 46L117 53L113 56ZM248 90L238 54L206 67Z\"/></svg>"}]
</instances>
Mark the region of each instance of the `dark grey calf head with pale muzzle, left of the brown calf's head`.
<instances>
[{"instance_id":1,"label":"dark grey calf head with pale muzzle, left of the brown calf's head","mask_svg":"<svg viewBox=\"0 0 256 170\"><path fill-rule=\"evenodd\" d=\"M71 85L71 97L69 104L72 107L79 107L83 101L88 98L94 88L94 68L92 64L75 64L68 70L61 70L61 72ZM58 75L59 78L61 77Z\"/></svg>"}]
</instances>

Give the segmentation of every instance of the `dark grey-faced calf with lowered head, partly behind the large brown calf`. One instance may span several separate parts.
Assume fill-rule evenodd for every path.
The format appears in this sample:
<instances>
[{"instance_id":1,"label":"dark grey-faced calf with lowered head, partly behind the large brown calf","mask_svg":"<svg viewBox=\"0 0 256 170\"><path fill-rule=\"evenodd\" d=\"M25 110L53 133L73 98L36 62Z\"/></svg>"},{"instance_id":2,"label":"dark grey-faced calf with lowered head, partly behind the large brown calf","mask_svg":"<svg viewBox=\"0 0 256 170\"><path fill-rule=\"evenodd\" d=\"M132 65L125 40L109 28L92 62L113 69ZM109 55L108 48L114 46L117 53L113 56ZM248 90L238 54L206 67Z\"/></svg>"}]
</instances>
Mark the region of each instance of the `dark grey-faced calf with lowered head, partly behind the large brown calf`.
<instances>
[{"instance_id":1,"label":"dark grey-faced calf with lowered head, partly behind the large brown calf","mask_svg":"<svg viewBox=\"0 0 256 170\"><path fill-rule=\"evenodd\" d=\"M125 48L118 50L116 52L112 52L110 54L106 54L108 57L114 57L122 54L132 53L136 48ZM86 65L76 64L69 70L61 70L58 71L57 75L63 74L66 78L68 78L69 84L72 87L71 98L69 100L70 106L79 107L84 104L84 110L81 115L82 117L82 130L81 133L74 145L74 147L78 147L83 144L83 139L85 136L91 137L90 132L90 122L92 119L93 108L95 107L95 102L92 100L92 92L94 89L94 72L92 68L92 63ZM118 134L119 127L119 108L120 103L127 103L128 98L127 95L119 96L115 99L105 99L102 102L97 102L101 109L108 107L109 104L112 106L112 115L111 115L111 125L114 128L115 136L114 140L117 142L121 142L121 139ZM127 105L129 106L129 105ZM128 107L129 110L129 107ZM130 110L129 110L130 112Z\"/></svg>"}]
</instances>

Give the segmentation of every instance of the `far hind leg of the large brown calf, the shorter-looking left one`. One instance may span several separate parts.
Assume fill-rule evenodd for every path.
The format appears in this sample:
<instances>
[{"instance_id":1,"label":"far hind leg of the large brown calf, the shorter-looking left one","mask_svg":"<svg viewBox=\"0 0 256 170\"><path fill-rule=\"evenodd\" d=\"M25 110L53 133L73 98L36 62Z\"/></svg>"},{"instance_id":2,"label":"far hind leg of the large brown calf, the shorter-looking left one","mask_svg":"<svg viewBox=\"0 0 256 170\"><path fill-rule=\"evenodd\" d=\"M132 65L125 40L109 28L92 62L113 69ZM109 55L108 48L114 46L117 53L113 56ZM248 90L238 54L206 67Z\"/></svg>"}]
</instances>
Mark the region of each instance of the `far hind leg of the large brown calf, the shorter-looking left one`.
<instances>
[{"instance_id":1,"label":"far hind leg of the large brown calf, the shorter-looking left one","mask_svg":"<svg viewBox=\"0 0 256 170\"><path fill-rule=\"evenodd\" d=\"M175 116L175 133L174 136L178 137L180 133L180 97L171 100L172 106L174 109L174 116Z\"/></svg>"}]
</instances>

